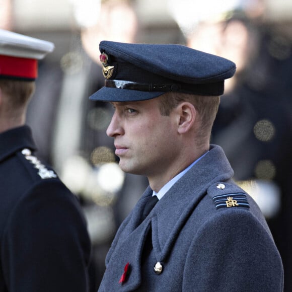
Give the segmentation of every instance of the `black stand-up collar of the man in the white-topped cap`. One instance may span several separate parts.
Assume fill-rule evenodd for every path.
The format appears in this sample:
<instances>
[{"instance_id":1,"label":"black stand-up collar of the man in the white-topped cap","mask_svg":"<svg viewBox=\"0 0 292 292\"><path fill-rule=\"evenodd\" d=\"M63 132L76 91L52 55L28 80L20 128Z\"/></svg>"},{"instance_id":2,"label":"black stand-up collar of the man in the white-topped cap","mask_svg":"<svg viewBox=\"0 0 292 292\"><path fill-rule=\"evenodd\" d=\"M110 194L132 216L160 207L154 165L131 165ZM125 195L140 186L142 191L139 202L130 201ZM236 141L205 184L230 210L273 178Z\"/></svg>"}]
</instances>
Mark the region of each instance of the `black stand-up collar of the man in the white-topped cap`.
<instances>
[{"instance_id":1,"label":"black stand-up collar of the man in the white-topped cap","mask_svg":"<svg viewBox=\"0 0 292 292\"><path fill-rule=\"evenodd\" d=\"M29 126L25 125L0 133L0 162L24 148L36 150Z\"/></svg>"}]
</instances>

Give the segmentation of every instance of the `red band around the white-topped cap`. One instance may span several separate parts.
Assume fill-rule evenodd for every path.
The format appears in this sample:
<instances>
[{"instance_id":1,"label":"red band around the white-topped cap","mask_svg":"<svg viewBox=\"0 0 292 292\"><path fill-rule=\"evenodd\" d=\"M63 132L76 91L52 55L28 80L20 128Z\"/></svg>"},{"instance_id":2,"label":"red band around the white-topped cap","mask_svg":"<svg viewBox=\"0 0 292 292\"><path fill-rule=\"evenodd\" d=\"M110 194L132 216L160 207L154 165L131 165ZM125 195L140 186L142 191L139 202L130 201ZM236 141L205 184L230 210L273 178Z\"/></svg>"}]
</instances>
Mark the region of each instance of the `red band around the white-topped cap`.
<instances>
[{"instance_id":1,"label":"red band around the white-topped cap","mask_svg":"<svg viewBox=\"0 0 292 292\"><path fill-rule=\"evenodd\" d=\"M0 76L34 80L37 78L37 69L36 59L0 55Z\"/></svg>"}]
</instances>

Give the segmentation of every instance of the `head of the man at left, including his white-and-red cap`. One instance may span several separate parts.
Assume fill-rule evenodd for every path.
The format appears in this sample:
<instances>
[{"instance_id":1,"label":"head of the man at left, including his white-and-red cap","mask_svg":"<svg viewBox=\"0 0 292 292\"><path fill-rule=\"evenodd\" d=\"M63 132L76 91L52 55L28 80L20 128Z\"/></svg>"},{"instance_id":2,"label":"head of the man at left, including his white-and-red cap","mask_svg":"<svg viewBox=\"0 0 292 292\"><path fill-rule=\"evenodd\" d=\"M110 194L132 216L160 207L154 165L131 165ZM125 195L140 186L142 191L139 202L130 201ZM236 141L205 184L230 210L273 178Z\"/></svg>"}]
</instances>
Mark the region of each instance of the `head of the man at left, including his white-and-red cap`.
<instances>
[{"instance_id":1,"label":"head of the man at left, including his white-and-red cap","mask_svg":"<svg viewBox=\"0 0 292 292\"><path fill-rule=\"evenodd\" d=\"M25 122L38 76L38 60L53 49L51 42L0 29L1 131Z\"/></svg>"}]
</instances>

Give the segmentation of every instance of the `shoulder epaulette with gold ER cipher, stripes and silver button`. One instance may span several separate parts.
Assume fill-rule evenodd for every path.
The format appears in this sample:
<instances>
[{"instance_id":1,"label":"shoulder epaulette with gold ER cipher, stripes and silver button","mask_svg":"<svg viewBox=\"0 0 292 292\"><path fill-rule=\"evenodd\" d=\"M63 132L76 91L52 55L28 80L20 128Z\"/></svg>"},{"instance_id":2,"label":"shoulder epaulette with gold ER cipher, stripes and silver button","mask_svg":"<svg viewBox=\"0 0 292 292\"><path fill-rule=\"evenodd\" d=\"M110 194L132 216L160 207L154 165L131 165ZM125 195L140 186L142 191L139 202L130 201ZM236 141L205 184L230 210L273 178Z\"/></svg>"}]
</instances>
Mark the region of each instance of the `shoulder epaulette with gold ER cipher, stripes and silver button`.
<instances>
[{"instance_id":1,"label":"shoulder epaulette with gold ER cipher, stripes and silver button","mask_svg":"<svg viewBox=\"0 0 292 292\"><path fill-rule=\"evenodd\" d=\"M249 208L246 193L236 184L217 182L208 188L208 194L215 203L216 209L233 207Z\"/></svg>"}]
</instances>

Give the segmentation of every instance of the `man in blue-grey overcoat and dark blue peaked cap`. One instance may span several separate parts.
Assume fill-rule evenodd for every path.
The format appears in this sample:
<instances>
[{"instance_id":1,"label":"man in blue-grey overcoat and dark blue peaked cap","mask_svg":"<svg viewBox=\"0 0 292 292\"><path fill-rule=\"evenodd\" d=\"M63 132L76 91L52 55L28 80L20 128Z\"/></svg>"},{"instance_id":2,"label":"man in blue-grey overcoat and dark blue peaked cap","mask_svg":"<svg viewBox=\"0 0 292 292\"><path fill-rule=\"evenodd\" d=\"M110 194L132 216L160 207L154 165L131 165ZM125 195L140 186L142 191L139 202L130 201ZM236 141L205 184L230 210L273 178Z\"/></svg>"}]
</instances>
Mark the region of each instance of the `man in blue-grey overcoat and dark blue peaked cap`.
<instances>
[{"instance_id":1,"label":"man in blue-grey overcoat and dark blue peaked cap","mask_svg":"<svg viewBox=\"0 0 292 292\"><path fill-rule=\"evenodd\" d=\"M119 165L150 186L116 234L99 291L282 291L264 217L209 144L235 64L171 44L102 41L100 51L105 87L90 98L112 103Z\"/></svg>"}]
</instances>

